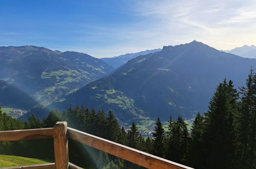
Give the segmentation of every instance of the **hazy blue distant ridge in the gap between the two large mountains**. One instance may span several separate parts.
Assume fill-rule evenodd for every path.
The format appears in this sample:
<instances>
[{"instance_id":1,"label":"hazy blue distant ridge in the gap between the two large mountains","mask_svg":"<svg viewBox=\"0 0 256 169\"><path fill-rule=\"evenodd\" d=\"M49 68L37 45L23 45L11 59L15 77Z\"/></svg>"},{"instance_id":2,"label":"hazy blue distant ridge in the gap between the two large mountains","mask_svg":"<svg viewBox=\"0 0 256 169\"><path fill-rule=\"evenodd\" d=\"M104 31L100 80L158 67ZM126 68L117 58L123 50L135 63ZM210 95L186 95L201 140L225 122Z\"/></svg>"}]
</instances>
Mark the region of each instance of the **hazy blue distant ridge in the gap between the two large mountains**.
<instances>
[{"instance_id":1,"label":"hazy blue distant ridge in the gap between the two large mountains","mask_svg":"<svg viewBox=\"0 0 256 169\"><path fill-rule=\"evenodd\" d=\"M154 52L159 52L161 49L153 49L153 50L146 50L146 51L141 51L141 52L136 52L136 53L127 53L125 55L120 55L120 56L114 56L114 57L105 57L101 58L103 61L105 61L108 65L112 66L113 68L119 68L122 65L125 65L128 60L133 59L137 56L140 55L146 55L149 53L154 53Z\"/></svg>"}]
</instances>

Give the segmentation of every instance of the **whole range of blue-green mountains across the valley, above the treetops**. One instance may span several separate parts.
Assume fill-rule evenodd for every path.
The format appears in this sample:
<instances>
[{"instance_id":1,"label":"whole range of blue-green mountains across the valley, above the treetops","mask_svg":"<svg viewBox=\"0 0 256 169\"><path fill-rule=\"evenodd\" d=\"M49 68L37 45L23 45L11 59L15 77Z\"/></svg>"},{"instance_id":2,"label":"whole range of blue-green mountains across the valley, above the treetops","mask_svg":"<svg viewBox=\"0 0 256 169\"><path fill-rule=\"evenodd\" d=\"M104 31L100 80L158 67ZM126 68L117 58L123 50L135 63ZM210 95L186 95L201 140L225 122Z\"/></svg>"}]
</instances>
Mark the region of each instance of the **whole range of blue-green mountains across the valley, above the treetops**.
<instances>
[{"instance_id":1,"label":"whole range of blue-green mountains across the valley, above the treetops","mask_svg":"<svg viewBox=\"0 0 256 169\"><path fill-rule=\"evenodd\" d=\"M225 77L235 87L244 86L249 69L256 66L256 59L195 40L111 59L118 69L84 53L0 47L0 104L31 109L23 119L32 113L43 117L50 109L66 110L69 104L112 110L123 122L170 115L189 119L207 111Z\"/></svg>"}]
</instances>

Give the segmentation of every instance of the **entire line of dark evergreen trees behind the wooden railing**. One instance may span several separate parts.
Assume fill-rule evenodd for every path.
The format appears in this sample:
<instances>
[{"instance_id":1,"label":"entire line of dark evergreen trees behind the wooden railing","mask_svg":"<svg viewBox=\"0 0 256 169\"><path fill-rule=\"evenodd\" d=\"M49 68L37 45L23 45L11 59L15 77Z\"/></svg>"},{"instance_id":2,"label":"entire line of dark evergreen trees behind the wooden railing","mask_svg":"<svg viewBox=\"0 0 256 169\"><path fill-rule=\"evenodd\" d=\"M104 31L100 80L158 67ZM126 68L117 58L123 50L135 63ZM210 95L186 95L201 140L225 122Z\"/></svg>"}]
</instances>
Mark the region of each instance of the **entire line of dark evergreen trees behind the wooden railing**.
<instances>
[{"instance_id":1,"label":"entire line of dark evergreen trees behind the wooden railing","mask_svg":"<svg viewBox=\"0 0 256 169\"><path fill-rule=\"evenodd\" d=\"M250 71L246 86L234 88L226 79L215 90L209 110L198 113L187 128L179 116L170 116L168 129L155 122L152 137L144 138L133 122L127 131L112 111L89 110L84 105L67 111L50 111L42 121L34 115L27 122L13 119L0 109L0 130L52 127L67 121L71 128L194 168L256 168L256 75ZM40 145L40 146L38 146ZM53 160L52 139L0 143L0 153ZM70 161L86 168L143 168L92 147L69 140Z\"/></svg>"}]
</instances>

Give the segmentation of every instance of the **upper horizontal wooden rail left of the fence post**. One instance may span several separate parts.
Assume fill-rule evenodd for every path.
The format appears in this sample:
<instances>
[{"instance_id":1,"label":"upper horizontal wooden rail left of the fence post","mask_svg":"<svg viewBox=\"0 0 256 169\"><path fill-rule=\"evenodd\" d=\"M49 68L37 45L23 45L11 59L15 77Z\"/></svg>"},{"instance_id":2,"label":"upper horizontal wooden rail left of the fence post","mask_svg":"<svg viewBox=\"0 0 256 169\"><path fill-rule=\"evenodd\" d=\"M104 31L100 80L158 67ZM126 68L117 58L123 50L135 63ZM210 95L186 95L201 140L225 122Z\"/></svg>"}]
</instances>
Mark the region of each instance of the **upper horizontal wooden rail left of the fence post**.
<instances>
[{"instance_id":1,"label":"upper horizontal wooden rail left of the fence post","mask_svg":"<svg viewBox=\"0 0 256 169\"><path fill-rule=\"evenodd\" d=\"M53 138L53 128L0 132L0 141L34 140L44 138Z\"/></svg>"}]
</instances>

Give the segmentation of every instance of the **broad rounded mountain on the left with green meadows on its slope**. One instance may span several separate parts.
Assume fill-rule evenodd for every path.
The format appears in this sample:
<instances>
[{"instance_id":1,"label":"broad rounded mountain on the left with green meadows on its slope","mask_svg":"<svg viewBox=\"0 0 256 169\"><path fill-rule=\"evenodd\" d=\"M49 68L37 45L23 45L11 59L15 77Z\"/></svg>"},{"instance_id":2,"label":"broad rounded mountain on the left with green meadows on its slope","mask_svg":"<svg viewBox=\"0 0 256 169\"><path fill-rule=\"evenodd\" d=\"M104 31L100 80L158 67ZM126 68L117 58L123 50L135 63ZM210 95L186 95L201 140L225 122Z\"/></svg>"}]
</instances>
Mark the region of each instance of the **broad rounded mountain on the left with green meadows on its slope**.
<instances>
[{"instance_id":1,"label":"broad rounded mountain on the left with green meadows on its slope","mask_svg":"<svg viewBox=\"0 0 256 169\"><path fill-rule=\"evenodd\" d=\"M78 52L43 47L0 47L0 78L49 104L87 83L106 76L113 68L104 61Z\"/></svg>"}]
</instances>

